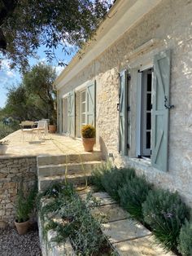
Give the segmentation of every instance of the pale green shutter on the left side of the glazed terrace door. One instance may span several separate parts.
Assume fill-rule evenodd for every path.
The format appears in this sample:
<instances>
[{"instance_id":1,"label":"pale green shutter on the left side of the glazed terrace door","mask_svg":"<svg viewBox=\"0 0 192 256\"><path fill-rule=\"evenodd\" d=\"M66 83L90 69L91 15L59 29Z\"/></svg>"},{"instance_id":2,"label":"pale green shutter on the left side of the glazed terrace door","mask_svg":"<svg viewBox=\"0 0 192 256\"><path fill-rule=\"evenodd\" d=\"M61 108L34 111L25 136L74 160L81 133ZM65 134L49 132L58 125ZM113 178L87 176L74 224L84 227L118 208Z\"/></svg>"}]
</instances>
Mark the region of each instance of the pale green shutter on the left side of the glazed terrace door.
<instances>
[{"instance_id":1,"label":"pale green shutter on the left side of the glazed terrace door","mask_svg":"<svg viewBox=\"0 0 192 256\"><path fill-rule=\"evenodd\" d=\"M68 135L75 137L75 91L68 94Z\"/></svg>"}]
</instances>

